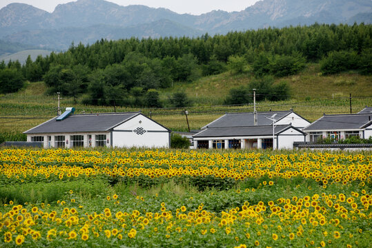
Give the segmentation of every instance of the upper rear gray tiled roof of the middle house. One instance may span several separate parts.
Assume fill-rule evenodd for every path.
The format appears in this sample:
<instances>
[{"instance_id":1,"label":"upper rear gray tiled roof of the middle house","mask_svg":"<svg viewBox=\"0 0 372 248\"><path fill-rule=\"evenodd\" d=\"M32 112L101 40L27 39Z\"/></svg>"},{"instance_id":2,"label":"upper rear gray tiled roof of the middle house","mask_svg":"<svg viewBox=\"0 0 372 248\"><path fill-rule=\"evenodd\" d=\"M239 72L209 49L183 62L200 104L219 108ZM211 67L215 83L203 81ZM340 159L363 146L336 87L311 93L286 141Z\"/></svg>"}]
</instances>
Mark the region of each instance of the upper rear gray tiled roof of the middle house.
<instances>
[{"instance_id":1,"label":"upper rear gray tiled roof of the middle house","mask_svg":"<svg viewBox=\"0 0 372 248\"><path fill-rule=\"evenodd\" d=\"M278 121L288 114L291 114L291 112L292 111L257 112L257 125L271 125L273 121L269 120L268 118L273 116L273 114L277 114L275 116L275 120ZM217 120L202 127L202 129L205 129L206 127L248 127L253 125L255 125L253 112L231 113L224 114L223 116L217 118Z\"/></svg>"}]
</instances>

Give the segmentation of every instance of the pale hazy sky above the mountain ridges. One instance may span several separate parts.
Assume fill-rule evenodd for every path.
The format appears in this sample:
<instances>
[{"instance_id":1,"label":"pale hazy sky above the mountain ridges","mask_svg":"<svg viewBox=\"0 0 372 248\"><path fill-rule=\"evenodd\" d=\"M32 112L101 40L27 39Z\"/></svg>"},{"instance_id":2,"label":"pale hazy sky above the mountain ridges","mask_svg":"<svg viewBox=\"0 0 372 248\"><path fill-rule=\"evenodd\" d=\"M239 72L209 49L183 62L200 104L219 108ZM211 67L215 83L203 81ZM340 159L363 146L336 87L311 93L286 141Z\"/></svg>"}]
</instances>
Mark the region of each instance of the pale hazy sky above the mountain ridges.
<instances>
[{"instance_id":1,"label":"pale hazy sky above the mountain ridges","mask_svg":"<svg viewBox=\"0 0 372 248\"><path fill-rule=\"evenodd\" d=\"M9 3L28 3L41 10L53 12L59 3L74 0L0 0L0 9ZM141 4L153 8L168 8L179 14L202 14L211 10L225 10L228 12L244 10L259 0L106 0L120 6Z\"/></svg>"}]
</instances>

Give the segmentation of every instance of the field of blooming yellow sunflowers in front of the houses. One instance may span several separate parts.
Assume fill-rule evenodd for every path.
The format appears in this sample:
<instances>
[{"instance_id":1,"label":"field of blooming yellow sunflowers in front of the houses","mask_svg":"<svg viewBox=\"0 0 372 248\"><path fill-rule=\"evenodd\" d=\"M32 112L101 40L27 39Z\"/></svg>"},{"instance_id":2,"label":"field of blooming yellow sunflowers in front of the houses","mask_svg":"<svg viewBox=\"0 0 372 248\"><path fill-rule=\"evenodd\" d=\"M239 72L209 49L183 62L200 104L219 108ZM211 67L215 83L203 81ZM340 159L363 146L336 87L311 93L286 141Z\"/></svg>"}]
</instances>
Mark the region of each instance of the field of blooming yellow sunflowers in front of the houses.
<instances>
[{"instance_id":1,"label":"field of blooming yellow sunflowers in front of the houses","mask_svg":"<svg viewBox=\"0 0 372 248\"><path fill-rule=\"evenodd\" d=\"M0 247L370 247L371 152L0 149Z\"/></svg>"}]
</instances>

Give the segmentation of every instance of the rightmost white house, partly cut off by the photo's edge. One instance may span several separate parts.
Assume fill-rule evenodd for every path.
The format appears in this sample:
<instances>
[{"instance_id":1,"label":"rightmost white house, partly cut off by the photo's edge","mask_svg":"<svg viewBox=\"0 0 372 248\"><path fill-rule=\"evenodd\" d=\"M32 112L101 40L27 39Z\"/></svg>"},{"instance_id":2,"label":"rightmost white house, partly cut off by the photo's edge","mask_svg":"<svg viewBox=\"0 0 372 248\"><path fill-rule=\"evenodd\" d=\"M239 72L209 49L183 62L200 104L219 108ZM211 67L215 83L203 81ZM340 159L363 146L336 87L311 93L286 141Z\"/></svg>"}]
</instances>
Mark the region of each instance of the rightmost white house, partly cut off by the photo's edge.
<instances>
[{"instance_id":1,"label":"rightmost white house, partly cut off by the photo's edge","mask_svg":"<svg viewBox=\"0 0 372 248\"><path fill-rule=\"evenodd\" d=\"M336 141L351 136L369 138L372 136L371 107L366 107L358 114L324 114L302 131L308 134L306 141L312 143L326 137L334 138Z\"/></svg>"}]
</instances>

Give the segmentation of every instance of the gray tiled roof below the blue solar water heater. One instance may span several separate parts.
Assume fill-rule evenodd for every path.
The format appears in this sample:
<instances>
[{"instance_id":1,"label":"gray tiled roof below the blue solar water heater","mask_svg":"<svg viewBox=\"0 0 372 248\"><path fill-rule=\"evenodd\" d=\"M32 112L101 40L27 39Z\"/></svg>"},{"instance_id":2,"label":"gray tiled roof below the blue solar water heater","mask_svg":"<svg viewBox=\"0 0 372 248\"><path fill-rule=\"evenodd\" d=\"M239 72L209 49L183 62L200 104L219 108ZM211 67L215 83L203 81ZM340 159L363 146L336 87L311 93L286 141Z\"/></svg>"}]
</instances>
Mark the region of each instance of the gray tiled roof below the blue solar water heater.
<instances>
[{"instance_id":1,"label":"gray tiled roof below the blue solar water heater","mask_svg":"<svg viewBox=\"0 0 372 248\"><path fill-rule=\"evenodd\" d=\"M42 123L24 134L41 133L68 133L68 132L104 132L111 127L119 125L128 119L136 116L135 113L115 113L115 114L72 114L63 121L56 121L55 118Z\"/></svg>"}]
</instances>

